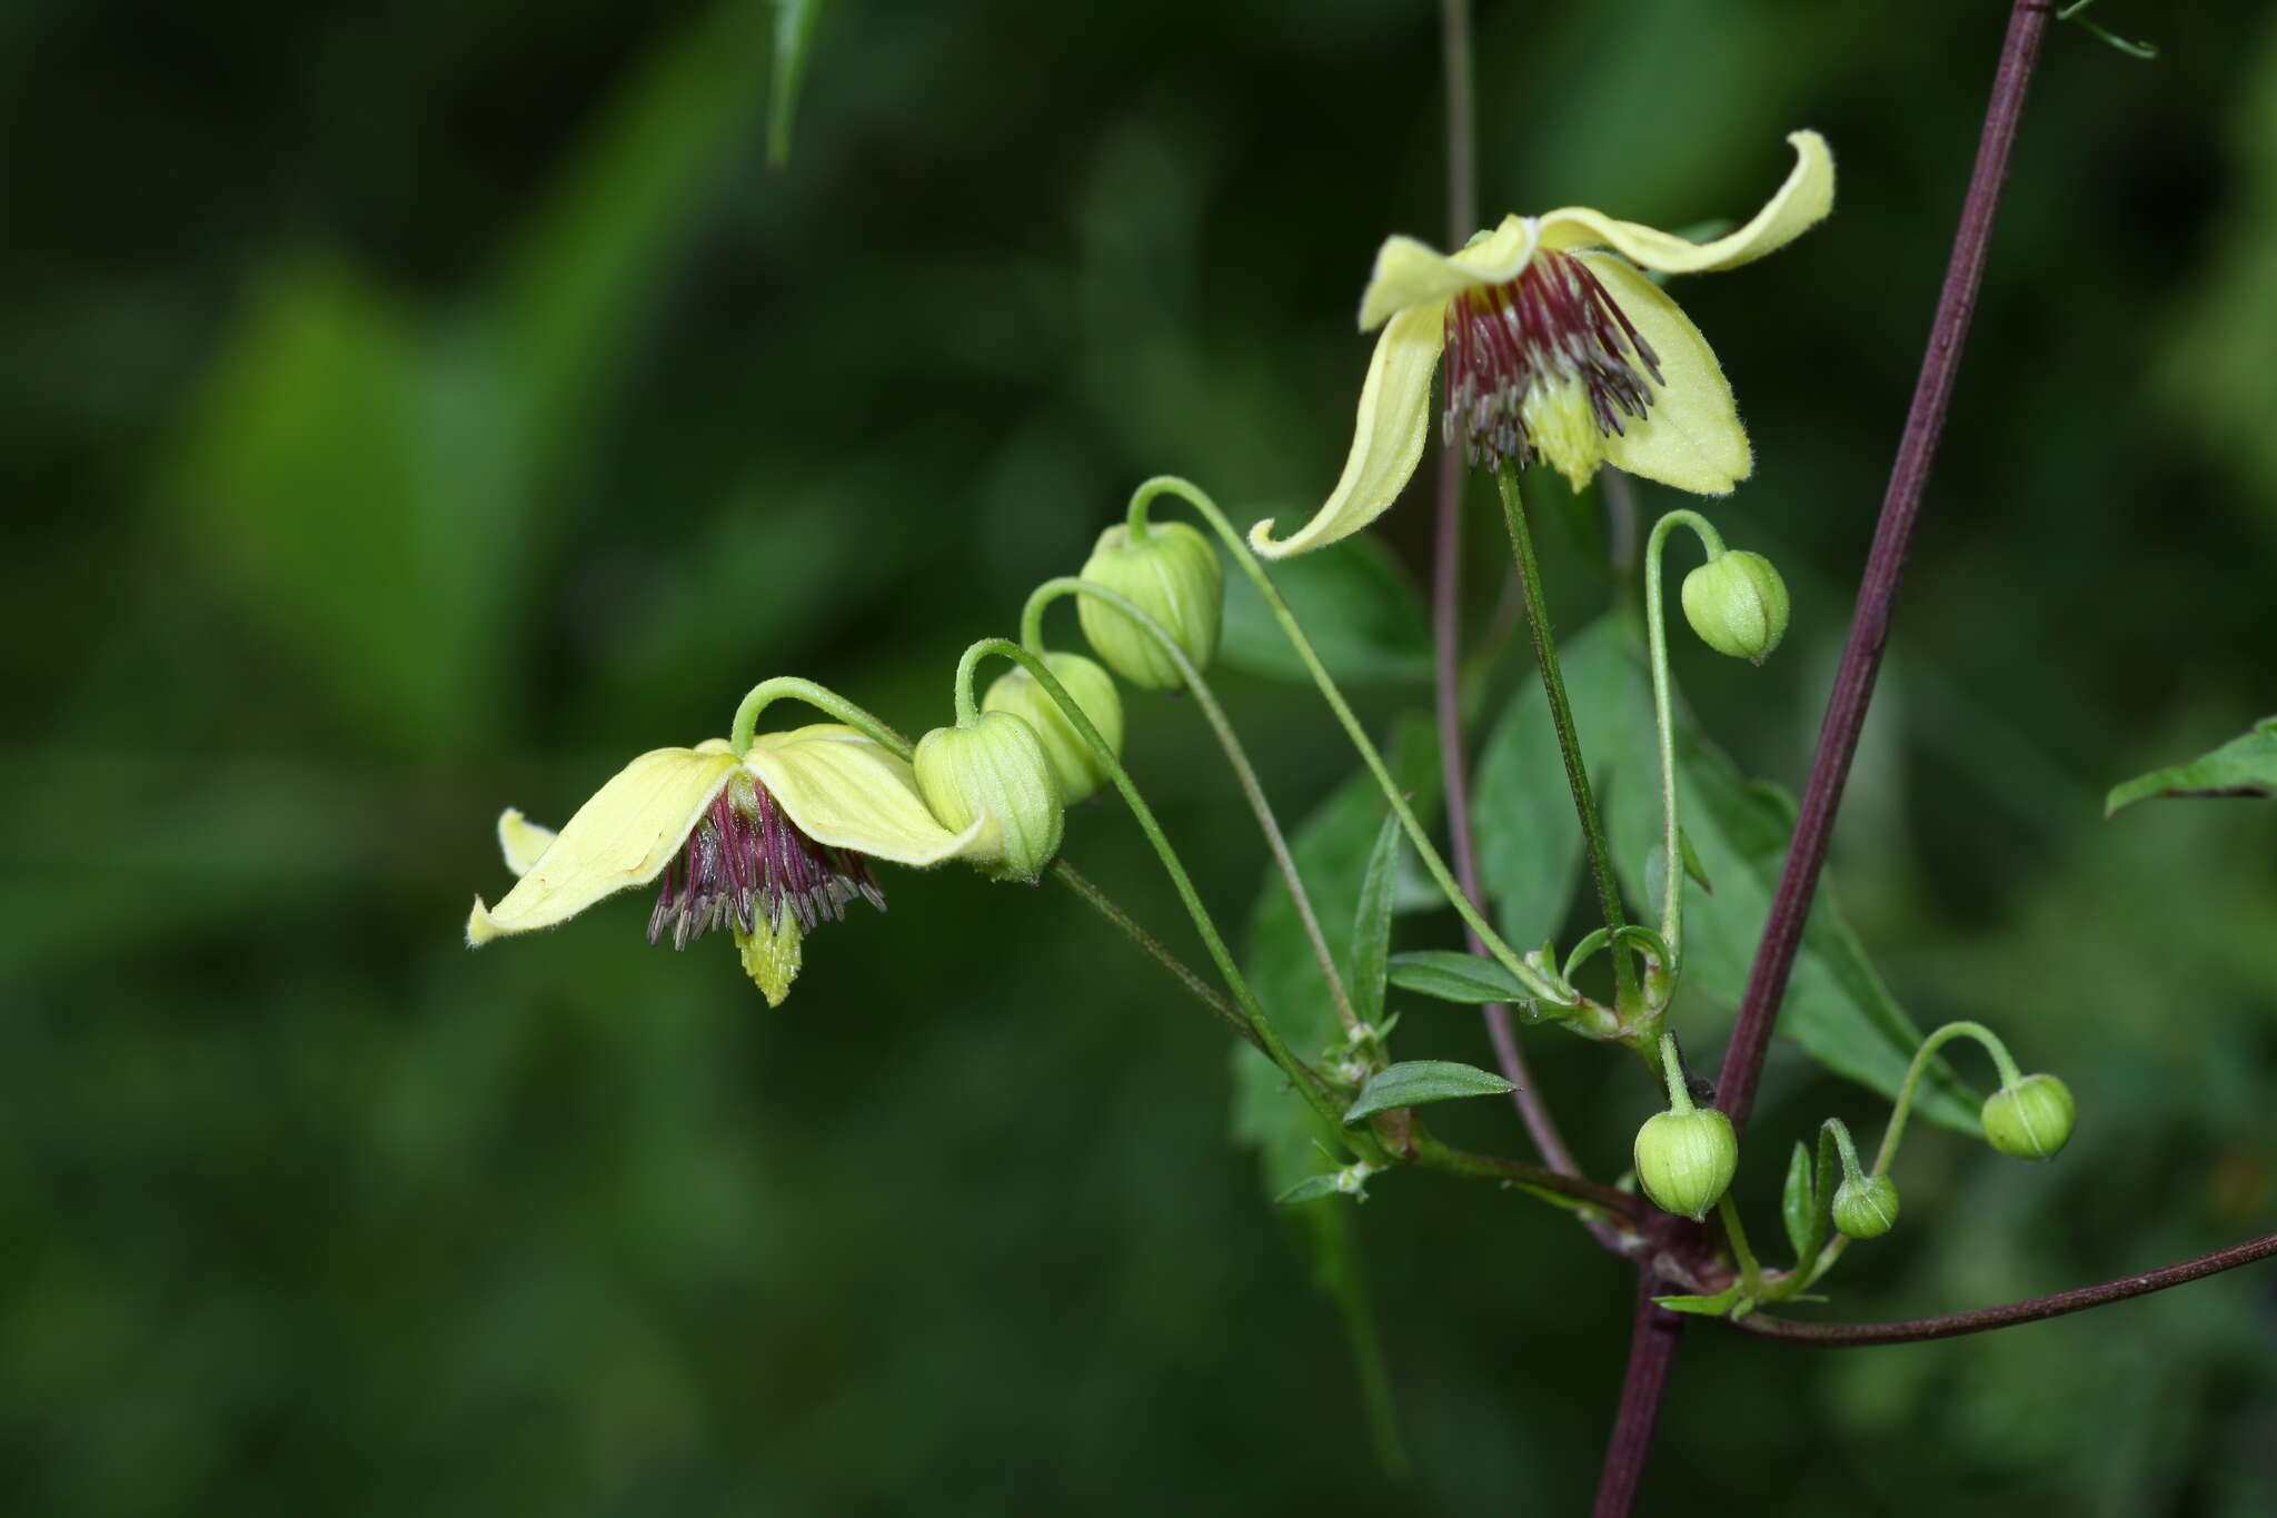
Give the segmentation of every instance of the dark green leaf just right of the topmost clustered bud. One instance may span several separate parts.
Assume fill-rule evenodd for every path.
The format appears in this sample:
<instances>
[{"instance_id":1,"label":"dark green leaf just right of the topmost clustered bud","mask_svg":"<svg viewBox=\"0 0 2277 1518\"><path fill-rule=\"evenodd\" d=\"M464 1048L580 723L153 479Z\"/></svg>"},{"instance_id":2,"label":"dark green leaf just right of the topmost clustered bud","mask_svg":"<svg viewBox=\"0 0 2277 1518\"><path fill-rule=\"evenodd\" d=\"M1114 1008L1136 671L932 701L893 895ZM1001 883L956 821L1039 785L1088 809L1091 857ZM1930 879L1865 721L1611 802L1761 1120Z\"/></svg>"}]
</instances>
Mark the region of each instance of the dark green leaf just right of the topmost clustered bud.
<instances>
[{"instance_id":1,"label":"dark green leaf just right of the topmost clustered bud","mask_svg":"<svg viewBox=\"0 0 2277 1518\"><path fill-rule=\"evenodd\" d=\"M1373 537L1275 560L1273 585L1296 612L1330 674L1355 685L1430 680L1430 619L1407 571ZM1243 674L1312 685L1273 612L1246 576L1225 587L1225 633L1218 658Z\"/></svg>"}]
</instances>

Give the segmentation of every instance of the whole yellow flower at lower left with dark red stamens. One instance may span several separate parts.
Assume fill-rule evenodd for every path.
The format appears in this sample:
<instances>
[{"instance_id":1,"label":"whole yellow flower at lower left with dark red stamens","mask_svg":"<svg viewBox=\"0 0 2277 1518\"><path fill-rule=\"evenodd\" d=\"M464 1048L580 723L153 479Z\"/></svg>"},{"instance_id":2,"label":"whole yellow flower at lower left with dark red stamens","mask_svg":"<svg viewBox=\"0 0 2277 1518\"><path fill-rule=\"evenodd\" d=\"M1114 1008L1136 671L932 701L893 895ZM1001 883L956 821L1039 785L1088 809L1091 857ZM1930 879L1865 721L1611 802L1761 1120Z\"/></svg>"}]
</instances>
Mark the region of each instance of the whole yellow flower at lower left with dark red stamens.
<instances>
[{"instance_id":1,"label":"whole yellow flower at lower left with dark red stamens","mask_svg":"<svg viewBox=\"0 0 2277 1518\"><path fill-rule=\"evenodd\" d=\"M938 865L968 853L984 824L940 826L909 762L840 724L761 733L740 760L717 737L651 749L560 833L512 808L499 817L499 849L521 881L494 908L474 899L467 944L549 929L660 876L649 942L669 933L685 949L731 929L742 967L781 1006L815 924L838 922L856 897L886 908L863 856Z\"/></svg>"}]
</instances>

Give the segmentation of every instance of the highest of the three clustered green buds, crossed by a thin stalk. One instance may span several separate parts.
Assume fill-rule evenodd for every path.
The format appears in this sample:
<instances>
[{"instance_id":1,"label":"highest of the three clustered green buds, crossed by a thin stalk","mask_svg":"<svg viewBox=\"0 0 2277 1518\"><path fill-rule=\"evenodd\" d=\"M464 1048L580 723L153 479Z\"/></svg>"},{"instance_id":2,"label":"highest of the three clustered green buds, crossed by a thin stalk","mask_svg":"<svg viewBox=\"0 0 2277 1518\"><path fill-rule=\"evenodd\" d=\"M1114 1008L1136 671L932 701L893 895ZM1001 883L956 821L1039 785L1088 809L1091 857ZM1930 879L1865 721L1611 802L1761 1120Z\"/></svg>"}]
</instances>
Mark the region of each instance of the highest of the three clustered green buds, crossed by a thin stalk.
<instances>
[{"instance_id":1,"label":"highest of the three clustered green buds, crossed by a thin stalk","mask_svg":"<svg viewBox=\"0 0 2277 1518\"><path fill-rule=\"evenodd\" d=\"M1084 578L1161 624L1195 669L1209 667L1218 651L1218 624L1225 619L1225 564L1198 528L1157 521L1148 526L1145 539L1134 539L1129 526L1118 521L1100 533ZM1152 633L1098 596L1082 596L1077 617L1098 655L1132 685L1179 690L1186 683Z\"/></svg>"}]
</instances>

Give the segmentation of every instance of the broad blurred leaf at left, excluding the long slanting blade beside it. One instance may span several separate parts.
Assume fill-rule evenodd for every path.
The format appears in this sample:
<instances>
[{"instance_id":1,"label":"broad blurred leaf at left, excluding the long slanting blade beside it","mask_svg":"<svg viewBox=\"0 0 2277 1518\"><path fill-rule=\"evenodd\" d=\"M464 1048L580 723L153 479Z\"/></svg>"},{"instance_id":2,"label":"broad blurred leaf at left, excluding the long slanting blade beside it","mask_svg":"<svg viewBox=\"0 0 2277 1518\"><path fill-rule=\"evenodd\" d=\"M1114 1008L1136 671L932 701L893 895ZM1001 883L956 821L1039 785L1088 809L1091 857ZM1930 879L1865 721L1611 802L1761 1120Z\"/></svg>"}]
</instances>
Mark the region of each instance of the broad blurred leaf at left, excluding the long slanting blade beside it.
<instances>
[{"instance_id":1,"label":"broad blurred leaf at left, excluding the long slanting blade beside it","mask_svg":"<svg viewBox=\"0 0 2277 1518\"><path fill-rule=\"evenodd\" d=\"M273 269L159 487L287 669L410 751L478 728L499 669L494 576L521 489L485 442L480 364L421 341L342 262Z\"/></svg>"}]
</instances>

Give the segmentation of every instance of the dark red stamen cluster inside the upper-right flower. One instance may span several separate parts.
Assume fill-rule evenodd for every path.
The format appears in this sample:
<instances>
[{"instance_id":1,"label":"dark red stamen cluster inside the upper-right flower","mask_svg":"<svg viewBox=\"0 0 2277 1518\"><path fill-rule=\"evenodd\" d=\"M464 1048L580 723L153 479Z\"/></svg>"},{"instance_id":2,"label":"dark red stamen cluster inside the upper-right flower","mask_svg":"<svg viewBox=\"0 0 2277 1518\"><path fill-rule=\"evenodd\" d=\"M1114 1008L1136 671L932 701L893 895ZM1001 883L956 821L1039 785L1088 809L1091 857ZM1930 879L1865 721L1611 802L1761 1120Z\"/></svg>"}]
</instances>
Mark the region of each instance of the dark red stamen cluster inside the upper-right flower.
<instances>
[{"instance_id":1,"label":"dark red stamen cluster inside the upper-right flower","mask_svg":"<svg viewBox=\"0 0 2277 1518\"><path fill-rule=\"evenodd\" d=\"M1621 416L1642 421L1653 405L1644 376L1660 385L1660 357L1571 253L1535 253L1519 278L1446 303L1444 437L1462 437L1471 464L1532 464L1519 410L1557 380L1578 380L1596 430L1621 435Z\"/></svg>"}]
</instances>

